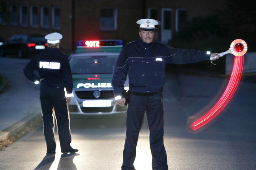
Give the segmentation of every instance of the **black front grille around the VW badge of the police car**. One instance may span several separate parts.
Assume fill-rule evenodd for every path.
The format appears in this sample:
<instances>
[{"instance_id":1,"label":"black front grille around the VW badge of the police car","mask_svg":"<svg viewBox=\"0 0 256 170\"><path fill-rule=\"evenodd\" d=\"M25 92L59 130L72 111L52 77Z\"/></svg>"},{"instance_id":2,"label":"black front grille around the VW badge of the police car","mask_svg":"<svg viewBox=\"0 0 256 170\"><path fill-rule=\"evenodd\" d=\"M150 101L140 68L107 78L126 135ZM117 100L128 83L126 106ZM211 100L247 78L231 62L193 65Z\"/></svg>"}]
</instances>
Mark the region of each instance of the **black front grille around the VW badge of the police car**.
<instances>
[{"instance_id":1,"label":"black front grille around the VW badge of the police car","mask_svg":"<svg viewBox=\"0 0 256 170\"><path fill-rule=\"evenodd\" d=\"M76 96L81 99L96 99L93 96L94 91L75 91ZM103 98L114 98L113 91L100 91L101 95L97 99L103 99Z\"/></svg>"}]
</instances>

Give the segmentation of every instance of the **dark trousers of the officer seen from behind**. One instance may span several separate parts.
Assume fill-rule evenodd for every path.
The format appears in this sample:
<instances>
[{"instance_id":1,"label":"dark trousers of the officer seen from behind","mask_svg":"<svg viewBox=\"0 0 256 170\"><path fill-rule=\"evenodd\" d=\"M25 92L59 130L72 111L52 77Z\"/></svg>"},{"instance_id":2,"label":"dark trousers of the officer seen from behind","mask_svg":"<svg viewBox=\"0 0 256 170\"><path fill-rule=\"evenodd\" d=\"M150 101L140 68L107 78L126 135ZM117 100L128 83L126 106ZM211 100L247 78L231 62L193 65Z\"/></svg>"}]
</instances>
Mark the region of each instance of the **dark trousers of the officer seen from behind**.
<instances>
[{"instance_id":1,"label":"dark trousers of the officer seen from behind","mask_svg":"<svg viewBox=\"0 0 256 170\"><path fill-rule=\"evenodd\" d=\"M43 116L44 137L48 151L55 151L56 142L54 135L54 112L61 151L71 149L70 120L67 109L65 92L40 91L40 100Z\"/></svg>"}]
</instances>

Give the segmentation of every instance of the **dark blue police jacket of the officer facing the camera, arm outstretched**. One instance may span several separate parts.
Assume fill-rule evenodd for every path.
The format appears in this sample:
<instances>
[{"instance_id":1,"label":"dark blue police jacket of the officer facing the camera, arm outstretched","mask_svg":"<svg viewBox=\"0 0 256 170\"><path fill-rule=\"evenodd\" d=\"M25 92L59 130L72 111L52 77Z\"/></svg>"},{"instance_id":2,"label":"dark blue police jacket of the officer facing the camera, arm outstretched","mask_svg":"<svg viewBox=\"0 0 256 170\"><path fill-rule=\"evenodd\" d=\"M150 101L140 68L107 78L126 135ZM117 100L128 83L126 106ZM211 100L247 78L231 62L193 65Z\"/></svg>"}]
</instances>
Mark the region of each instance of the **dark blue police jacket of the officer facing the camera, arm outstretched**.
<instances>
[{"instance_id":1,"label":"dark blue police jacket of the officer facing the camera, arm outstretched","mask_svg":"<svg viewBox=\"0 0 256 170\"><path fill-rule=\"evenodd\" d=\"M116 60L111 81L114 94L123 97L127 75L129 91L160 92L166 64L189 64L209 59L206 51L175 49L161 42L145 43L140 38L125 45Z\"/></svg>"}]
</instances>

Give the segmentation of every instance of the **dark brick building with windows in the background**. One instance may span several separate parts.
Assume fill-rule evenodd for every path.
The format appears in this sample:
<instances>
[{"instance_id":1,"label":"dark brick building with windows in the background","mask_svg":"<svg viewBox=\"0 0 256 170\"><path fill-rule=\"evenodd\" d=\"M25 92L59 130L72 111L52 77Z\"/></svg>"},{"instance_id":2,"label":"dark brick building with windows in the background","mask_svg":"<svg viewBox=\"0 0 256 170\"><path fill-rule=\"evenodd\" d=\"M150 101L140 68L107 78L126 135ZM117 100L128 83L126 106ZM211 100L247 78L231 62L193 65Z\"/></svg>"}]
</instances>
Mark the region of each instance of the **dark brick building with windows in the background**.
<instances>
[{"instance_id":1,"label":"dark brick building with windows in the background","mask_svg":"<svg viewBox=\"0 0 256 170\"><path fill-rule=\"evenodd\" d=\"M17 33L47 35L59 32L64 37L61 50L70 54L78 40L138 38L142 18L162 22L155 38L167 43L186 20L206 16L221 9L225 0L2 0L0 36L8 39ZM6 6L5 6L6 5ZM4 8L3 8L4 7Z\"/></svg>"}]
</instances>

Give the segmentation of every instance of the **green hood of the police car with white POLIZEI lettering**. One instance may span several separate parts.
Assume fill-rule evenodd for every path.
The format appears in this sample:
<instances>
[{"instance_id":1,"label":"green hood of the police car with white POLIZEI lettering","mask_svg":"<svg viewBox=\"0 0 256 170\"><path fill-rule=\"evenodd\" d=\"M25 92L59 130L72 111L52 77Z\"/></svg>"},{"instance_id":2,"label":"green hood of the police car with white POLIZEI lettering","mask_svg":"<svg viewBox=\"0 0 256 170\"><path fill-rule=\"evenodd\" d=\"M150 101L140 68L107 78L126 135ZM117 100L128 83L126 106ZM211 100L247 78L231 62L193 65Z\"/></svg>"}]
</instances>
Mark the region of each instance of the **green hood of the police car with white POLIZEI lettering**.
<instances>
[{"instance_id":1,"label":"green hood of the police car with white POLIZEI lettering","mask_svg":"<svg viewBox=\"0 0 256 170\"><path fill-rule=\"evenodd\" d=\"M112 74L72 74L73 89L111 89Z\"/></svg>"}]
</instances>

